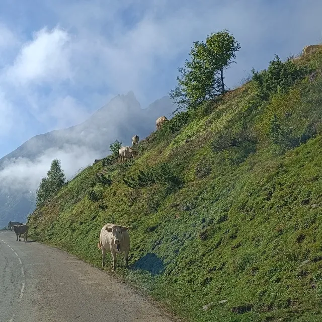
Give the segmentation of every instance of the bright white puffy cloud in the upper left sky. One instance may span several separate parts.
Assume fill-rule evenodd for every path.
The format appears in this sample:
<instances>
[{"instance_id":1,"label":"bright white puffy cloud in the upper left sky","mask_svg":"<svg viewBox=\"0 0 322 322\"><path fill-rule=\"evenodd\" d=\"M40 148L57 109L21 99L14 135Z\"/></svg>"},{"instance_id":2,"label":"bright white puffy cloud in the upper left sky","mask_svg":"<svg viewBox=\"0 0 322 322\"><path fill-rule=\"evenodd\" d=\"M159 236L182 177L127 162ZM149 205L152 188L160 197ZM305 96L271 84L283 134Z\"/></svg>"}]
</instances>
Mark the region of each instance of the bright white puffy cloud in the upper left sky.
<instances>
[{"instance_id":1,"label":"bright white puffy cloud in the upper left sky","mask_svg":"<svg viewBox=\"0 0 322 322\"><path fill-rule=\"evenodd\" d=\"M35 32L33 40L24 44L14 64L8 68L7 77L18 86L70 78L69 40L68 33L59 27Z\"/></svg>"}]
</instances>

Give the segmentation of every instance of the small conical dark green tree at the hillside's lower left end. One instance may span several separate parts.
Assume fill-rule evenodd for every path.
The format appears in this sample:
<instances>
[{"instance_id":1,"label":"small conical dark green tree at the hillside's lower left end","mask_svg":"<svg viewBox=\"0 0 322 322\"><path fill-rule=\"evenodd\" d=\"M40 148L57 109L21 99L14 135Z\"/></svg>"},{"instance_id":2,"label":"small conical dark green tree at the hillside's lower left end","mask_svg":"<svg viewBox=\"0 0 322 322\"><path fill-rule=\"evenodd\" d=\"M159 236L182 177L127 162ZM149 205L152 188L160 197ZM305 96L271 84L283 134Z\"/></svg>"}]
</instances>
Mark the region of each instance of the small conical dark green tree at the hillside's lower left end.
<instances>
[{"instance_id":1,"label":"small conical dark green tree at the hillside's lower left end","mask_svg":"<svg viewBox=\"0 0 322 322\"><path fill-rule=\"evenodd\" d=\"M65 174L61 169L60 160L53 159L47 176L41 179L37 189L37 206L51 199L65 183Z\"/></svg>"}]
</instances>

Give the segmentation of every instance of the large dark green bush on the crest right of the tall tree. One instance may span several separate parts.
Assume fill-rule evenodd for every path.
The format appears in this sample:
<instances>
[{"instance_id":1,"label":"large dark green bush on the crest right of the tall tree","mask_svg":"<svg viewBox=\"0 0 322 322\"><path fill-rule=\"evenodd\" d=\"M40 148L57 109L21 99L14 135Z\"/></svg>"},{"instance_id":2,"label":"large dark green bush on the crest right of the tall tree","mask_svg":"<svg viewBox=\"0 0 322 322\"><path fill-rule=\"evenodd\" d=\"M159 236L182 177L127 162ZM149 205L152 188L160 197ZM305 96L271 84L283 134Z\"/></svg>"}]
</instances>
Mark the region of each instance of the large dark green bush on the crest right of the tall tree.
<instances>
[{"instance_id":1,"label":"large dark green bush on the crest right of the tall tree","mask_svg":"<svg viewBox=\"0 0 322 322\"><path fill-rule=\"evenodd\" d=\"M259 94L267 100L271 94L286 93L288 89L299 79L303 79L309 73L304 66L295 65L290 59L285 62L275 55L267 69L260 72L253 68L253 81L257 83Z\"/></svg>"}]
</instances>

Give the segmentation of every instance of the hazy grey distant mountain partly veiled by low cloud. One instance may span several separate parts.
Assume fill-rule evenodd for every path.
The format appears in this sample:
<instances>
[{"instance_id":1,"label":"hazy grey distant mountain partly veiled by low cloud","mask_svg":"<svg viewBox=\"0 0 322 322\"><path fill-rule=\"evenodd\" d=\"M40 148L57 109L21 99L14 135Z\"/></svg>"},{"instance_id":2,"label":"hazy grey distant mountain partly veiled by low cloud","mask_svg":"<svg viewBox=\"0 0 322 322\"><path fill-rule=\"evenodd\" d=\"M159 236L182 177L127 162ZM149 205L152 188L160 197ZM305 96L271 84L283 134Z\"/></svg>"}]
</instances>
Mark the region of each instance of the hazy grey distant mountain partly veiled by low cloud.
<instances>
[{"instance_id":1,"label":"hazy grey distant mountain partly veiled by low cloud","mask_svg":"<svg viewBox=\"0 0 322 322\"><path fill-rule=\"evenodd\" d=\"M86 151L87 162L89 159L94 162L95 158L102 158L109 154L111 142L118 139L122 140L124 145L131 145L131 138L135 134L140 137L140 140L143 139L155 130L157 117L166 115L170 118L174 110L175 106L168 96L153 102L146 109L141 109L133 92L129 92L127 95L116 96L81 124L36 135L29 139L0 159L0 226L8 224L9 220L26 221L27 214L35 206L34 194L31 191L34 192L36 183L38 185L40 182L40 178L38 182L38 177L29 178L27 174L24 178L26 181L18 186L12 185L8 180L4 183L2 176L8 173L8 169L15 171L15 165L18 167L21 164L28 164L28 169L33 164L37 167L39 159L47 154L54 158L56 154L59 157L60 153L68 154L77 149ZM83 166L87 164L84 161ZM50 164L48 169L49 166ZM72 169L72 165L70 167ZM77 169L72 170L74 173ZM15 175L17 173L15 171ZM24 174L24 171L22 173ZM42 174L44 175L45 173Z\"/></svg>"}]
</instances>

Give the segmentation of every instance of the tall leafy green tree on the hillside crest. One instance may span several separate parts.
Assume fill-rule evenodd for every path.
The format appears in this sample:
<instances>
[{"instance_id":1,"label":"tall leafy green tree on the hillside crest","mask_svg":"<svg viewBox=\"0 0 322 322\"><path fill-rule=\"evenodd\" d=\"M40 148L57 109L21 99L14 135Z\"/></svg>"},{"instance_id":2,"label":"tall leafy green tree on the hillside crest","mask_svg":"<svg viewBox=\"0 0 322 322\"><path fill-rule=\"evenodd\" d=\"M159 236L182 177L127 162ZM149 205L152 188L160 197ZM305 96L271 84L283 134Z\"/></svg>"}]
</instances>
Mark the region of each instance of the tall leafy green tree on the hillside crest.
<instances>
[{"instance_id":1,"label":"tall leafy green tree on the hillside crest","mask_svg":"<svg viewBox=\"0 0 322 322\"><path fill-rule=\"evenodd\" d=\"M177 110L195 107L225 92L224 69L228 68L240 44L228 30L208 35L206 42L195 41L185 67L178 70L178 86L169 95L179 106Z\"/></svg>"}]
</instances>

